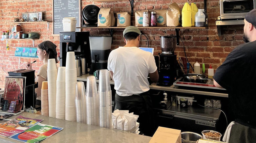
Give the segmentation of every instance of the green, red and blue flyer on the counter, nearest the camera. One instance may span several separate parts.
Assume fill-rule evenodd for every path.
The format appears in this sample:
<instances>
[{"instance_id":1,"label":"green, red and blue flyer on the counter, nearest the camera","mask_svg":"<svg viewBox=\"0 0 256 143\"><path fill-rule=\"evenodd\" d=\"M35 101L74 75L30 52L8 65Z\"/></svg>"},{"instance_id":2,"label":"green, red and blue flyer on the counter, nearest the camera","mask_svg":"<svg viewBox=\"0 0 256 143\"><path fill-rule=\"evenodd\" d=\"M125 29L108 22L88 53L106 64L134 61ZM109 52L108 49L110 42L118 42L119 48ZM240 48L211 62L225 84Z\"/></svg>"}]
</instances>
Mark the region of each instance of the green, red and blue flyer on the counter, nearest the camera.
<instances>
[{"instance_id":1,"label":"green, red and blue flyer on the counter, nearest the camera","mask_svg":"<svg viewBox=\"0 0 256 143\"><path fill-rule=\"evenodd\" d=\"M21 134L13 135L9 138L17 141L21 141L21 142L26 142L26 143L37 143L56 134L62 129L63 128L60 128L60 127L54 127L54 126L38 123L37 125L26 130L25 132Z\"/></svg>"}]
</instances>

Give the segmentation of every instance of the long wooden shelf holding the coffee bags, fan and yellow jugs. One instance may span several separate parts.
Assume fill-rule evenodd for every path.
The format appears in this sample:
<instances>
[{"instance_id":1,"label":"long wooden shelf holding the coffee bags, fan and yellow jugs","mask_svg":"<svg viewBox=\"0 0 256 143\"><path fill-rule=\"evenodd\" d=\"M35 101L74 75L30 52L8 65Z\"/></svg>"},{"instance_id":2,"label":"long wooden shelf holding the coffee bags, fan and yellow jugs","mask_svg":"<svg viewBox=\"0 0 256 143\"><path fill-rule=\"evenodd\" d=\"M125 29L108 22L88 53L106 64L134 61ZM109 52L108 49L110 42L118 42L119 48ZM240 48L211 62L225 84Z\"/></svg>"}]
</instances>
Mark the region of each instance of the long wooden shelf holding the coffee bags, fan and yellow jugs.
<instances>
[{"instance_id":1,"label":"long wooden shelf holding the coffee bags, fan and yellow jugs","mask_svg":"<svg viewBox=\"0 0 256 143\"><path fill-rule=\"evenodd\" d=\"M126 27L76 27L80 29L90 28L109 28L109 29L123 29ZM139 29L206 29L206 27L167 27L167 26L155 26L155 27L137 27Z\"/></svg>"}]
</instances>

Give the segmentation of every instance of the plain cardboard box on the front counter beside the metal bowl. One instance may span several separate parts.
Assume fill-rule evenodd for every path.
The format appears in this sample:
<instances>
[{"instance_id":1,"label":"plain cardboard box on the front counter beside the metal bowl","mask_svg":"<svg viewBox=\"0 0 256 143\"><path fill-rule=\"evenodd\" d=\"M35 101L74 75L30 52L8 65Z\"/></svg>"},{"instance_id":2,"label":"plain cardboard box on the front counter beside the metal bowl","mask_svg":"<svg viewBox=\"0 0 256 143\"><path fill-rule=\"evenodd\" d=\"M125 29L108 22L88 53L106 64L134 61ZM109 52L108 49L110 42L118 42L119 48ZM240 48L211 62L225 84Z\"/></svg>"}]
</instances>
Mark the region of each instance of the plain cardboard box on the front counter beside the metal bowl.
<instances>
[{"instance_id":1,"label":"plain cardboard box on the front counter beside the metal bowl","mask_svg":"<svg viewBox=\"0 0 256 143\"><path fill-rule=\"evenodd\" d=\"M149 143L181 143L181 130L158 127Z\"/></svg>"}]
</instances>

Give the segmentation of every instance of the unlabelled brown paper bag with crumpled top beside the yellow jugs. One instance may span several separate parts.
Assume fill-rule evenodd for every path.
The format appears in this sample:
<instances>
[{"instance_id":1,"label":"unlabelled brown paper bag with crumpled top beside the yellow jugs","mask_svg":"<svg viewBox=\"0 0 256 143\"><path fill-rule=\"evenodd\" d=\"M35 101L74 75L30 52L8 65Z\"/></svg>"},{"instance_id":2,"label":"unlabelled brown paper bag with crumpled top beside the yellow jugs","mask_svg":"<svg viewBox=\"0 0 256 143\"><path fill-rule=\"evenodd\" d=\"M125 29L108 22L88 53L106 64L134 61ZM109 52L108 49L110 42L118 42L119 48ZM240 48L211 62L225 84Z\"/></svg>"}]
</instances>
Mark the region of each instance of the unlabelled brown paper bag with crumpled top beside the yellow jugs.
<instances>
[{"instance_id":1,"label":"unlabelled brown paper bag with crumpled top beside the yellow jugs","mask_svg":"<svg viewBox=\"0 0 256 143\"><path fill-rule=\"evenodd\" d=\"M172 3L166 11L166 24L167 26L180 26L181 25L181 9L177 3Z\"/></svg>"}]
</instances>

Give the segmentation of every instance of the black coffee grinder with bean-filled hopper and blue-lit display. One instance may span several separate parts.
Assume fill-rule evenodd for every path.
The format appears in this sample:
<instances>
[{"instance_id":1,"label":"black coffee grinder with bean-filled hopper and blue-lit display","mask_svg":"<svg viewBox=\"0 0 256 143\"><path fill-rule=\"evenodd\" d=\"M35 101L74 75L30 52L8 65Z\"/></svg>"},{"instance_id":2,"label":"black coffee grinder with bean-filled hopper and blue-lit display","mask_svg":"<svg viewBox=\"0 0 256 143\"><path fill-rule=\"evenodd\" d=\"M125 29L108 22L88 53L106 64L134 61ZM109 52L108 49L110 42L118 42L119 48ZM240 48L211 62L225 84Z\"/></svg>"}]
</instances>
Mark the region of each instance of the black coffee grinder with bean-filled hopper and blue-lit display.
<instances>
[{"instance_id":1,"label":"black coffee grinder with bean-filled hopper and blue-lit display","mask_svg":"<svg viewBox=\"0 0 256 143\"><path fill-rule=\"evenodd\" d=\"M174 55L176 48L176 36L160 36L160 70L158 86L169 87L177 78L176 66L177 59Z\"/></svg>"}]
</instances>

